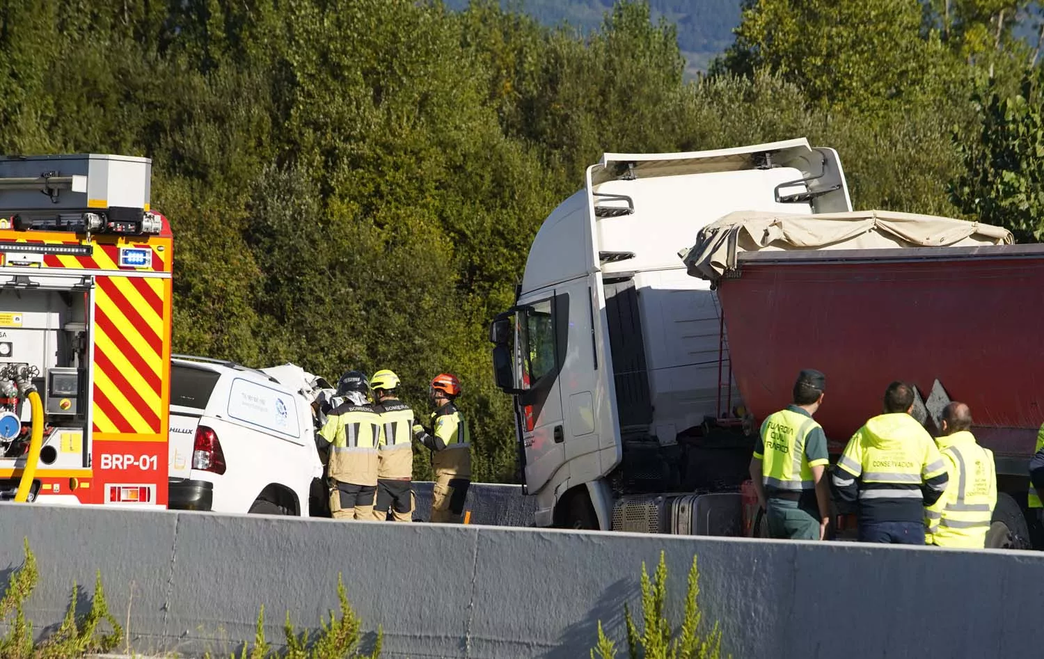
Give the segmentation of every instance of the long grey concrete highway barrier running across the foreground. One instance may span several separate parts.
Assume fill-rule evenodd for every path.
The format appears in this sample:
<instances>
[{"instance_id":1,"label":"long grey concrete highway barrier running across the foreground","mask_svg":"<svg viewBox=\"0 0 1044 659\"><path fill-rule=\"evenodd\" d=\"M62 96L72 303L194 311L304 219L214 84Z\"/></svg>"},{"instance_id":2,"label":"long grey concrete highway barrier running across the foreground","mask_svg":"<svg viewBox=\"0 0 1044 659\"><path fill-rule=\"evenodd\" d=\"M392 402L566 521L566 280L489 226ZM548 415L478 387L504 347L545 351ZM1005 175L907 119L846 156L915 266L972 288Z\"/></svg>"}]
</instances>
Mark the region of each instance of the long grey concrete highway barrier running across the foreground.
<instances>
[{"instance_id":1,"label":"long grey concrete highway barrier running across the foreground","mask_svg":"<svg viewBox=\"0 0 1044 659\"><path fill-rule=\"evenodd\" d=\"M23 537L37 557L38 632L100 569L143 654L234 652L262 604L270 641L286 611L317 627L339 572L367 637L383 626L383 657L586 657L599 619L622 640L623 604L640 612L641 563L655 569L661 549L673 619L697 555L705 621L720 621L736 659L1039 654L1040 552L14 503L0 520L4 575Z\"/></svg>"}]
</instances>

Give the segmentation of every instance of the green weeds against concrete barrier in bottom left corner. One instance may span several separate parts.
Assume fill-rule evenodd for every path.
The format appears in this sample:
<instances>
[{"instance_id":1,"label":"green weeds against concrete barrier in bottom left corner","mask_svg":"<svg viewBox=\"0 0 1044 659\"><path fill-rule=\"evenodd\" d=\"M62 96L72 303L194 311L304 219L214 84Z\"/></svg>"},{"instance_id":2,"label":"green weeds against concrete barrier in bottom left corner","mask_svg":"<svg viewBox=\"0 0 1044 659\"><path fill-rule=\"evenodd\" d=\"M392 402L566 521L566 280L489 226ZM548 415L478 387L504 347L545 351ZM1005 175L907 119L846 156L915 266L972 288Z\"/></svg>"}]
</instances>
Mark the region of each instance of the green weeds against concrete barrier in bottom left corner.
<instances>
[{"instance_id":1,"label":"green weeds against concrete barrier in bottom left corner","mask_svg":"<svg viewBox=\"0 0 1044 659\"><path fill-rule=\"evenodd\" d=\"M15 570L7 581L7 591L0 599L0 620L6 620L14 609L15 621L10 631L0 639L0 656L4 659L64 659L81 657L88 653L105 653L116 648L123 639L123 628L109 613L105 591L101 587L101 572L94 584L94 599L91 610L82 617L76 616L78 589L72 585L72 596L65 620L57 631L39 643L32 639L32 622L25 619L25 601L37 587L40 573L37 558L25 540L25 562ZM98 631L100 622L109 622L112 632Z\"/></svg>"}]
</instances>

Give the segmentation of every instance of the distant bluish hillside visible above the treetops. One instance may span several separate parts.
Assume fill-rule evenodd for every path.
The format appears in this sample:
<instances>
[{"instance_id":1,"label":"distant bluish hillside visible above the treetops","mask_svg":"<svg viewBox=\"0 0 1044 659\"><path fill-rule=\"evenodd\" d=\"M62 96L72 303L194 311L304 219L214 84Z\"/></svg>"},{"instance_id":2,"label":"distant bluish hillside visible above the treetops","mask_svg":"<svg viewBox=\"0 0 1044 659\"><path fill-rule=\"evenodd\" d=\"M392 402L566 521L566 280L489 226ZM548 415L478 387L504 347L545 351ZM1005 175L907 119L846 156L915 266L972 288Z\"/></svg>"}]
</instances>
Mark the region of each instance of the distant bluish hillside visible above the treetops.
<instances>
[{"instance_id":1,"label":"distant bluish hillside visible above the treetops","mask_svg":"<svg viewBox=\"0 0 1044 659\"><path fill-rule=\"evenodd\" d=\"M462 9L468 0L447 0ZM544 25L563 21L584 31L601 25L613 0L500 0L501 6L521 8ZM732 28L739 24L740 0L650 0L655 19L664 16L678 24L678 45L689 63L687 73L704 71L714 55L732 43Z\"/></svg>"}]
</instances>

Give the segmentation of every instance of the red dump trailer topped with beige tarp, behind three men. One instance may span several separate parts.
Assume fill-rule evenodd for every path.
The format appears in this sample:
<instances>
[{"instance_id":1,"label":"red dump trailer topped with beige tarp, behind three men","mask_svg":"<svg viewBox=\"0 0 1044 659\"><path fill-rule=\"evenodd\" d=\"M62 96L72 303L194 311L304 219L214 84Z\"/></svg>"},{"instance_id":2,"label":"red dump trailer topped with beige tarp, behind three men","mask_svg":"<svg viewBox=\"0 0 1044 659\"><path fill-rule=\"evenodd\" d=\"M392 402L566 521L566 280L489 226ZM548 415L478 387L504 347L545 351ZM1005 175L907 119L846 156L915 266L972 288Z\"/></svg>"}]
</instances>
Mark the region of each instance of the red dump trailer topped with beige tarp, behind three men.
<instances>
[{"instance_id":1,"label":"red dump trailer topped with beige tarp, behind three men","mask_svg":"<svg viewBox=\"0 0 1044 659\"><path fill-rule=\"evenodd\" d=\"M1040 546L1025 507L1044 422L1044 244L902 213L736 213L702 231L686 263L717 290L728 368L755 420L789 402L803 368L827 375L816 420L834 454L893 380L917 386L929 430L947 402L966 402L996 457L988 544Z\"/></svg>"}]
</instances>

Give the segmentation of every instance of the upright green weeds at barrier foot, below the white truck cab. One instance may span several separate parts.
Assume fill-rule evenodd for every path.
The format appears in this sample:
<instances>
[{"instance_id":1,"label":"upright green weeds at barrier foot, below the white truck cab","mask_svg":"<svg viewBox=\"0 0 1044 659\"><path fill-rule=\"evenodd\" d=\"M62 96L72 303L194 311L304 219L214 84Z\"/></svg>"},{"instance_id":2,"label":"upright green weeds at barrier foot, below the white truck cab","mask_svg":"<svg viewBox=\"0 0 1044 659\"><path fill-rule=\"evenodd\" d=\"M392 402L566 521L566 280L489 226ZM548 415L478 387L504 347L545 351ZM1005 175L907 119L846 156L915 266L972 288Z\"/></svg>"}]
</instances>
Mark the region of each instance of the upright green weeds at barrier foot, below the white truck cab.
<instances>
[{"instance_id":1,"label":"upright green weeds at barrier foot, below the white truck cab","mask_svg":"<svg viewBox=\"0 0 1044 659\"><path fill-rule=\"evenodd\" d=\"M667 599L667 562L660 552L660 565L650 581L642 561L642 618L641 633L631 615L631 607L623 605L627 626L627 654L631 659L719 659L721 656L721 630L715 621L706 637L699 633L703 611L696 597L699 595L699 570L696 557L689 569L689 588L685 597L685 614L680 634L673 637L665 605ZM591 650L591 659L615 659L616 644L606 636L598 621L598 644ZM729 656L732 659L732 655Z\"/></svg>"}]
</instances>

